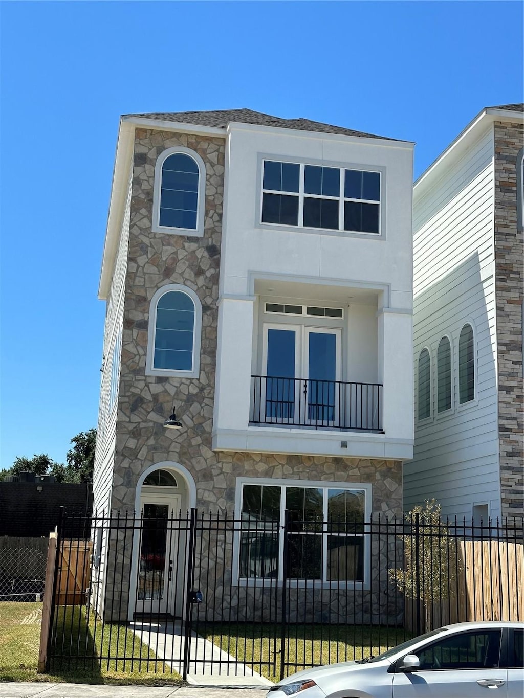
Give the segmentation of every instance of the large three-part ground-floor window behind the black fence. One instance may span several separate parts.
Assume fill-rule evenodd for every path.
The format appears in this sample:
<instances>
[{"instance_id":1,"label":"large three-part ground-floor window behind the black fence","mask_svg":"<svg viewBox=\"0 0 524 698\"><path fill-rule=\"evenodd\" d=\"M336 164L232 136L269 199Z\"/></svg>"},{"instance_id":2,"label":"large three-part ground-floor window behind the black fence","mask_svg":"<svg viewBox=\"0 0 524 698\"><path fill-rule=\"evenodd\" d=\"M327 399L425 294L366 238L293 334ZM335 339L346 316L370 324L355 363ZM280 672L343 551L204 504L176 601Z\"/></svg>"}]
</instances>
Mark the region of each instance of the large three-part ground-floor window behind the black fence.
<instances>
[{"instance_id":1,"label":"large three-part ground-floor window behind the black fence","mask_svg":"<svg viewBox=\"0 0 524 698\"><path fill-rule=\"evenodd\" d=\"M366 588L370 503L370 484L239 477L238 579L282 583L285 554L290 584Z\"/></svg>"}]
</instances>

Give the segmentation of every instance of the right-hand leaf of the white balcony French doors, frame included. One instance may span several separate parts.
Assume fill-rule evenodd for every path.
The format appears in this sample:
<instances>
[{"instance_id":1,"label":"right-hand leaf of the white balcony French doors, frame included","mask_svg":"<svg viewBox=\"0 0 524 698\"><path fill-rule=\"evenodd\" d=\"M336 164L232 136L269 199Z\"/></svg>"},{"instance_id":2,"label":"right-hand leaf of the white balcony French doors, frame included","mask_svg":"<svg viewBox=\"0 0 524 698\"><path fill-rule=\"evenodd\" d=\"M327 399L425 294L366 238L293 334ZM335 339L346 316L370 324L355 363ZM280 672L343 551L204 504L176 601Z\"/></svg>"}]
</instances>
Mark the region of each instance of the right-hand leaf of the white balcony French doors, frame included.
<instances>
[{"instance_id":1,"label":"right-hand leaf of the white balcony French doors, frame included","mask_svg":"<svg viewBox=\"0 0 524 698\"><path fill-rule=\"evenodd\" d=\"M340 380L340 330L305 328L307 424L335 426Z\"/></svg>"}]
</instances>

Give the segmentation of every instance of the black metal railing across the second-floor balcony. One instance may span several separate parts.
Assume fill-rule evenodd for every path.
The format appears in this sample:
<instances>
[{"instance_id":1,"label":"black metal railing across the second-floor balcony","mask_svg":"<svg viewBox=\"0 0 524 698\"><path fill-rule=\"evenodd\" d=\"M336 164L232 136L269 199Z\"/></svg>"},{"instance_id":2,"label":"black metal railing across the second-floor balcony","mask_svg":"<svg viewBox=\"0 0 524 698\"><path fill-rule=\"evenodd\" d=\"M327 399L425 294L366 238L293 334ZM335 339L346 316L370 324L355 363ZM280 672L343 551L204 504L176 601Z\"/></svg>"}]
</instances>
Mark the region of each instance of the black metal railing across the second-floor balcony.
<instances>
[{"instance_id":1,"label":"black metal railing across the second-floor balcony","mask_svg":"<svg viewBox=\"0 0 524 698\"><path fill-rule=\"evenodd\" d=\"M382 385L252 376L250 424L381 431Z\"/></svg>"}]
</instances>

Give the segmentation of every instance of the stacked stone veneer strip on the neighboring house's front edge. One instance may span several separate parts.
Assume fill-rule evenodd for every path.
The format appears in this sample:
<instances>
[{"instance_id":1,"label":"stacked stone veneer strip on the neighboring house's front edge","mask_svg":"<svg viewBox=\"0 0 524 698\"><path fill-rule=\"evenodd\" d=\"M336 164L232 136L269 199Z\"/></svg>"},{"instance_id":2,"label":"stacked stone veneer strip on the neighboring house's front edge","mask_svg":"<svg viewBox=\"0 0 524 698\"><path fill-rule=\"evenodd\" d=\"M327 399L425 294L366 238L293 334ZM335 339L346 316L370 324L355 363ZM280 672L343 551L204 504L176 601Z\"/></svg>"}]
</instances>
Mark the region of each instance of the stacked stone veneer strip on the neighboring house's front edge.
<instances>
[{"instance_id":1,"label":"stacked stone veneer strip on the neighboring house's front edge","mask_svg":"<svg viewBox=\"0 0 524 698\"><path fill-rule=\"evenodd\" d=\"M495 121L495 292L502 516L524 514L523 231L517 230L516 156L522 124Z\"/></svg>"}]
</instances>

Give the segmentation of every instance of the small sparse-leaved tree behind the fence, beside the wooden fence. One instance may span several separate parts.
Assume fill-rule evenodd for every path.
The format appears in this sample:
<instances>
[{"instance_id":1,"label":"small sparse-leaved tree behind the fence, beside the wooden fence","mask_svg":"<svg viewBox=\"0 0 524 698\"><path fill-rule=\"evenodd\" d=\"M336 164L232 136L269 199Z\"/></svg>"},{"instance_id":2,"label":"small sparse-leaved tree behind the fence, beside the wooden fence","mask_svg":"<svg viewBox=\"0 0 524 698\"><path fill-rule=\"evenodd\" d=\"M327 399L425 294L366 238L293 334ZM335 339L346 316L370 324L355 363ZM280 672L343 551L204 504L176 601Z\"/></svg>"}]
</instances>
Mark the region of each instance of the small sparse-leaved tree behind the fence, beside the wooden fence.
<instances>
[{"instance_id":1,"label":"small sparse-leaved tree behind the fence, beside the wooden fence","mask_svg":"<svg viewBox=\"0 0 524 698\"><path fill-rule=\"evenodd\" d=\"M414 530L417 514L418 532ZM408 599L418 597L425 604L446 599L450 589L456 588L462 565L456 539L448 523L442 522L442 507L435 499L425 500L406 519L412 524L412 534L399 536L404 542L405 570L388 570L389 578Z\"/></svg>"}]
</instances>

